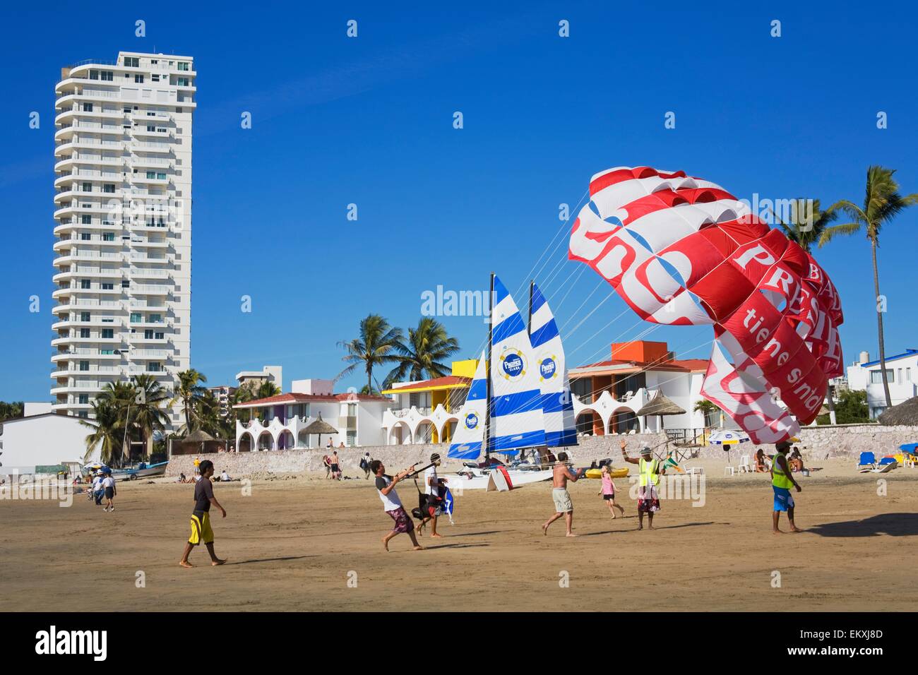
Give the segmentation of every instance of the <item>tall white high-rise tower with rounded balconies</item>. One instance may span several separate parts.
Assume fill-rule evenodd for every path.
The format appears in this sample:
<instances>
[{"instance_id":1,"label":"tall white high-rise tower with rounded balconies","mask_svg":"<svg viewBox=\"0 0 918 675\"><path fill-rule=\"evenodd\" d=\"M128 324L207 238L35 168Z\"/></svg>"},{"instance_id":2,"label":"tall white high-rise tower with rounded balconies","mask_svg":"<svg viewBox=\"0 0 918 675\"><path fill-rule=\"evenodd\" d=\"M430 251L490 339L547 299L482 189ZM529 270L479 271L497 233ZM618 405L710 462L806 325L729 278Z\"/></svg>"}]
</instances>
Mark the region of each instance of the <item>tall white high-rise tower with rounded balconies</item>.
<instances>
[{"instance_id":1,"label":"tall white high-rise tower with rounded balconies","mask_svg":"<svg viewBox=\"0 0 918 675\"><path fill-rule=\"evenodd\" d=\"M118 53L56 86L54 410L91 416L113 381L174 388L191 356L188 56ZM172 412L174 425L181 422Z\"/></svg>"}]
</instances>

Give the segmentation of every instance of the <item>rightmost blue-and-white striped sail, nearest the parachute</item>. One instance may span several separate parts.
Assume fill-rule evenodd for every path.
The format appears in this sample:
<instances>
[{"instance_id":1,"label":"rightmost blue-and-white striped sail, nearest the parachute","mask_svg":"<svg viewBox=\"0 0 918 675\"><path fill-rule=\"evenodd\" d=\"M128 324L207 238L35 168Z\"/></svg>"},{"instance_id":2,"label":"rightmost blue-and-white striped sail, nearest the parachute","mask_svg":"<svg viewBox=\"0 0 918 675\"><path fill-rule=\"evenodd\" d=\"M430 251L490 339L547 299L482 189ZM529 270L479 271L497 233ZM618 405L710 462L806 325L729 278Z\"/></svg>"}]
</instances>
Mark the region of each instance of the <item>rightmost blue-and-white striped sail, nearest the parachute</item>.
<instances>
[{"instance_id":1,"label":"rightmost blue-and-white striped sail, nearest the parachute","mask_svg":"<svg viewBox=\"0 0 918 675\"><path fill-rule=\"evenodd\" d=\"M542 414L545 425L545 444L549 447L577 444L574 424L574 401L567 379L565 349L554 322L548 302L535 284L532 284L530 310L530 341L542 389Z\"/></svg>"}]
</instances>

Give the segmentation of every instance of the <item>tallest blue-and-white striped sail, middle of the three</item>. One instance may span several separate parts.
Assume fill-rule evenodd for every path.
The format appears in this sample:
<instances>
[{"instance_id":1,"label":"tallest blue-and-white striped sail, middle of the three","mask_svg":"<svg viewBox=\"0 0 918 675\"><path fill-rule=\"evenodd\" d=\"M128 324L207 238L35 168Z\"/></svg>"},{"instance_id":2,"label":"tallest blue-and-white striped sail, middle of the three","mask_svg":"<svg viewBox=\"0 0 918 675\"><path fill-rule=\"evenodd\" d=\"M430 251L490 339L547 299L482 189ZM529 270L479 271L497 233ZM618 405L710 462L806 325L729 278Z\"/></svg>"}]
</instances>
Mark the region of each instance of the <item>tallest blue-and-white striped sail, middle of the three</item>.
<instances>
[{"instance_id":1,"label":"tallest blue-and-white striped sail, middle of the three","mask_svg":"<svg viewBox=\"0 0 918 675\"><path fill-rule=\"evenodd\" d=\"M512 455L545 444L539 368L529 332L507 288L494 277L491 309L491 413L488 451Z\"/></svg>"}]
</instances>

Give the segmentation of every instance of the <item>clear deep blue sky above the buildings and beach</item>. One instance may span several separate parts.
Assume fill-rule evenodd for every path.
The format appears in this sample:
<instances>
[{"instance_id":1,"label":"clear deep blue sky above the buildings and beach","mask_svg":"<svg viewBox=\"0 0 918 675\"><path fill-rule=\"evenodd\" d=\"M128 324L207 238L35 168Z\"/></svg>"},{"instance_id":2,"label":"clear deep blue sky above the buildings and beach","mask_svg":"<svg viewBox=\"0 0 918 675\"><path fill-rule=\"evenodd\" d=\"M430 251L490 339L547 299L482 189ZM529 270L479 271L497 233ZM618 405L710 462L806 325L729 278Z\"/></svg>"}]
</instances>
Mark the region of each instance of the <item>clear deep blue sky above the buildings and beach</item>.
<instances>
[{"instance_id":1,"label":"clear deep blue sky above the buildings and beach","mask_svg":"<svg viewBox=\"0 0 918 675\"><path fill-rule=\"evenodd\" d=\"M334 377L336 343L366 314L414 325L423 291L484 289L492 270L511 291L530 275L543 283L577 365L650 327L614 297L582 321L610 287L550 245L558 205L573 209L591 174L651 165L741 198L828 204L861 200L868 164L879 163L918 192L916 10L808 5L221 3L154 13L106 3L97 16L89 4L79 16L6 7L0 400L50 399L53 101L63 65L112 61L120 50L195 58L192 365L210 383L264 364L284 366L285 386ZM358 21L356 39L345 36L348 19ZM561 19L569 38L558 36ZM33 110L38 130L28 128ZM242 111L252 129L241 129ZM464 129L453 129L455 111ZM664 128L667 111L676 129ZM878 111L888 129L877 129ZM888 354L918 347L916 226L918 208L881 237ZM536 264L543 253L547 264ZM837 241L816 256L842 297L845 361L862 349L875 357L867 242ZM32 295L39 313L28 311ZM243 295L251 313L241 312ZM481 319L442 321L461 355L475 355ZM711 329L646 337L705 357ZM355 374L338 388L363 381Z\"/></svg>"}]
</instances>

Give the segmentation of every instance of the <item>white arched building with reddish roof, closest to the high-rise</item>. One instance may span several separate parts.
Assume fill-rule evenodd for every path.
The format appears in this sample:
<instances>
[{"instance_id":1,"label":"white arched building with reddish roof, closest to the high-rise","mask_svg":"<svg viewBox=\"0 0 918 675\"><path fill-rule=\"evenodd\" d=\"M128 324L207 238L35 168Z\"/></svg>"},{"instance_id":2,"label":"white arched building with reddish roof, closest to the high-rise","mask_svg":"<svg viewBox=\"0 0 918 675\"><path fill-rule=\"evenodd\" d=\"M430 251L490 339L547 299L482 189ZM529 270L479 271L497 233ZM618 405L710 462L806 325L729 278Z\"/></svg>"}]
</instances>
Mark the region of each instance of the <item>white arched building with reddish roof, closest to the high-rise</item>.
<instances>
[{"instance_id":1,"label":"white arched building with reddish roof, closest to the high-rise","mask_svg":"<svg viewBox=\"0 0 918 675\"><path fill-rule=\"evenodd\" d=\"M383 416L392 407L392 399L336 394L331 380L294 380L290 388L285 394L233 406L237 452L325 447L329 439L334 447L385 444ZM319 417L336 430L320 441L318 435L306 431Z\"/></svg>"}]
</instances>

